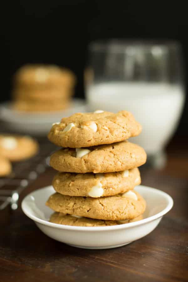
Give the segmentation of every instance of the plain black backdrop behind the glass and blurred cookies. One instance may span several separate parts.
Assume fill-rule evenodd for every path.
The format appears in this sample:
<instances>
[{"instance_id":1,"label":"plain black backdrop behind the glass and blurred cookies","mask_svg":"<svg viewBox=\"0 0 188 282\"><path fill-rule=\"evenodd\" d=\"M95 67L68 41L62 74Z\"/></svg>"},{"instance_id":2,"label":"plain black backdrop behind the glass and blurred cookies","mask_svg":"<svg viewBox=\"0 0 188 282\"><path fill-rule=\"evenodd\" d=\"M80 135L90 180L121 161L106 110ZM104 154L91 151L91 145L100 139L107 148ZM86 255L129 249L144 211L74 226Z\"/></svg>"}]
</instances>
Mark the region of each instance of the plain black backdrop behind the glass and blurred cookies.
<instances>
[{"instance_id":1,"label":"plain black backdrop behind the glass and blurred cookies","mask_svg":"<svg viewBox=\"0 0 188 282\"><path fill-rule=\"evenodd\" d=\"M186 1L7 1L2 13L2 92L26 63L57 64L76 73L76 96L84 97L87 44L96 39L175 39L188 67ZM187 74L185 72L185 85ZM187 85L186 85L187 89ZM186 91L187 92L187 91ZM187 100L187 99L186 99ZM159 109L160 110L160 109ZM188 134L188 102L177 134Z\"/></svg>"}]
</instances>

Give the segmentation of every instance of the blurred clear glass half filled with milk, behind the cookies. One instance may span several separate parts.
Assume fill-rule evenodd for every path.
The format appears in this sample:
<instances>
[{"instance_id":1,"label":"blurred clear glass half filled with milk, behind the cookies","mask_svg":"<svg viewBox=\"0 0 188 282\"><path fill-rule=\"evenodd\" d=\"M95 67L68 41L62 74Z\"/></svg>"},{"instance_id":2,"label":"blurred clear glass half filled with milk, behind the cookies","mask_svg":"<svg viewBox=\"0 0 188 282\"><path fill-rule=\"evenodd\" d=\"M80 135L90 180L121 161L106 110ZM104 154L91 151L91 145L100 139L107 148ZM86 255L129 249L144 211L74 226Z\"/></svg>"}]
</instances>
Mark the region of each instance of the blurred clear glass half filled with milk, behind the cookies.
<instances>
[{"instance_id":1,"label":"blurred clear glass half filled with milk, behind the cookies","mask_svg":"<svg viewBox=\"0 0 188 282\"><path fill-rule=\"evenodd\" d=\"M146 150L149 164L165 165L185 100L179 44L91 43L85 86L89 111L132 112L143 130L130 141Z\"/></svg>"}]
</instances>

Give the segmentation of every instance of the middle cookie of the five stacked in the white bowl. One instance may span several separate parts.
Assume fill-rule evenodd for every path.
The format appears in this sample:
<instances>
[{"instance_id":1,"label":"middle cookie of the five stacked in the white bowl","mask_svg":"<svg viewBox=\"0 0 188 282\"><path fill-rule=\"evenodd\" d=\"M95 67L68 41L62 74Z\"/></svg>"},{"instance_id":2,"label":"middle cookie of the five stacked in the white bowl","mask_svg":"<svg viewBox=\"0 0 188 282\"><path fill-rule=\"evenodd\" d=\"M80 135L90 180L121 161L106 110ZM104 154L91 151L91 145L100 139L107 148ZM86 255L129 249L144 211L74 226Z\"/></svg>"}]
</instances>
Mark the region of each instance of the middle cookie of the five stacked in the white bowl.
<instances>
[{"instance_id":1,"label":"middle cookie of the five stacked in the white bowl","mask_svg":"<svg viewBox=\"0 0 188 282\"><path fill-rule=\"evenodd\" d=\"M52 185L56 192L68 196L93 198L112 196L132 190L139 185L138 168L108 173L65 173L55 175Z\"/></svg>"}]
</instances>

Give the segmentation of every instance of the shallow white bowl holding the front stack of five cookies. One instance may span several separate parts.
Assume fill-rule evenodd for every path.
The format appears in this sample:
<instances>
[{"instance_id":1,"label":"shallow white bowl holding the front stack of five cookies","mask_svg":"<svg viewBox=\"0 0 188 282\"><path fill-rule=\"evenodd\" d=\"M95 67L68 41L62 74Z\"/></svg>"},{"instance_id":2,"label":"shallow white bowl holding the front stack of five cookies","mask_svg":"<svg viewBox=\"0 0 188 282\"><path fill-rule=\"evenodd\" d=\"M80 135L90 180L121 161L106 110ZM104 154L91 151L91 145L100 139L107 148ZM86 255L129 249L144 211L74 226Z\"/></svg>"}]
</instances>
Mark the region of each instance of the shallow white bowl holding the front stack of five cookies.
<instances>
[{"instance_id":1,"label":"shallow white bowl holding the front stack of five cookies","mask_svg":"<svg viewBox=\"0 0 188 282\"><path fill-rule=\"evenodd\" d=\"M30 193L22 201L23 212L50 238L62 243L87 249L116 248L138 240L159 224L161 218L173 206L172 198L163 191L139 185L135 187L146 200L144 219L115 226L77 227L48 222L53 211L45 206L54 193L52 186Z\"/></svg>"}]
</instances>

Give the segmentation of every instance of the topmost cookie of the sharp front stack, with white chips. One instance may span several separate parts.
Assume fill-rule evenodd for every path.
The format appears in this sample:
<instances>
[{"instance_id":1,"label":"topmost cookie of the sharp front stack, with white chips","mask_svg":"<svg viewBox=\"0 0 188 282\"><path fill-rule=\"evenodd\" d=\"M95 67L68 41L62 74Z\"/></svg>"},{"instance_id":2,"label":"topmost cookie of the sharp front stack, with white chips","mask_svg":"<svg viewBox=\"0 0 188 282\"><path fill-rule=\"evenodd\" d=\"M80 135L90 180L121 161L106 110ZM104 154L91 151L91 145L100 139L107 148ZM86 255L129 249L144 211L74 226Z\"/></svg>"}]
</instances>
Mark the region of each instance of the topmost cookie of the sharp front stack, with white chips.
<instances>
[{"instance_id":1,"label":"topmost cookie of the sharp front stack, with white chips","mask_svg":"<svg viewBox=\"0 0 188 282\"><path fill-rule=\"evenodd\" d=\"M76 113L69 118L62 118L49 134L49 140L60 147L81 148L100 144L112 144L137 136L141 125L127 111L96 111Z\"/></svg>"}]
</instances>

